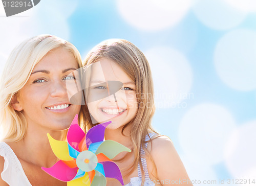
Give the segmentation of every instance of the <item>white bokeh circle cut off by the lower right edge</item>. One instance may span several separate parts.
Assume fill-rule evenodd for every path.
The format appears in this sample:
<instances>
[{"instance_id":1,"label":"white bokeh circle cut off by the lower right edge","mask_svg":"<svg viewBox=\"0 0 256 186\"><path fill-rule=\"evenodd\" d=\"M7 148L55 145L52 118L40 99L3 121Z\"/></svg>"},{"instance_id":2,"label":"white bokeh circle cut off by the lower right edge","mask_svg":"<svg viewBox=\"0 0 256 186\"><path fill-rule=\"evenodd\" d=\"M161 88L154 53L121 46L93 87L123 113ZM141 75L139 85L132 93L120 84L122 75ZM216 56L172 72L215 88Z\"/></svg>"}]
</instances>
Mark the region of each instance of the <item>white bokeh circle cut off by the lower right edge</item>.
<instances>
[{"instance_id":1,"label":"white bokeh circle cut off by the lower right edge","mask_svg":"<svg viewBox=\"0 0 256 186\"><path fill-rule=\"evenodd\" d=\"M229 135L224 151L225 164L234 178L255 173L255 131L256 121L250 121L242 124Z\"/></svg>"}]
</instances>

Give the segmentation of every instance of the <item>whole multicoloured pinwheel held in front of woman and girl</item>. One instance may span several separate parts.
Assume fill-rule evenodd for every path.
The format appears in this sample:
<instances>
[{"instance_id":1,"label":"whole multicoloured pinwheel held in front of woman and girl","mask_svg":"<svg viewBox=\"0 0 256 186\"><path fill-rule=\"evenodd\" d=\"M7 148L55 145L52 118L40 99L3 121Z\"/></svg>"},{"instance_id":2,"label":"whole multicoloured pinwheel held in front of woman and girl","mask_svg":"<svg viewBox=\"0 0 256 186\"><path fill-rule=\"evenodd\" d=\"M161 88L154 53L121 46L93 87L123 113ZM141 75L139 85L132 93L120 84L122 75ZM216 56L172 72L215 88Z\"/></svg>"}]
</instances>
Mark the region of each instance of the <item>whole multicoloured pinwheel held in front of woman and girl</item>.
<instances>
[{"instance_id":1,"label":"whole multicoloured pinwheel held in front of woman and girl","mask_svg":"<svg viewBox=\"0 0 256 186\"><path fill-rule=\"evenodd\" d=\"M57 141L47 134L51 148L60 160L42 170L68 182L68 186L106 185L106 177L115 178L123 185L121 172L111 159L120 152L131 150L115 141L103 141L105 128L111 122L96 125L84 134L77 119L78 115L69 128L68 142Z\"/></svg>"}]
</instances>

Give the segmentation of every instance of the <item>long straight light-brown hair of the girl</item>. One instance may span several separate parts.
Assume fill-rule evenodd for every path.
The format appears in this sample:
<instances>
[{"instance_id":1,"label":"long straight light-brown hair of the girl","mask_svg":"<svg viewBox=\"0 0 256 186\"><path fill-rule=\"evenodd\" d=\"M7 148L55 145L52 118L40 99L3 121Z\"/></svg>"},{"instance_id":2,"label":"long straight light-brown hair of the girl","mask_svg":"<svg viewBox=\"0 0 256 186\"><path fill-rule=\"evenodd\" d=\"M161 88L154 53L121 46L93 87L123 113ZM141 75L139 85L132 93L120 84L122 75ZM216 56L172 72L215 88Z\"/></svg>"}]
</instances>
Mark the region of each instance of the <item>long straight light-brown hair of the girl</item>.
<instances>
[{"instance_id":1,"label":"long straight light-brown hair of the girl","mask_svg":"<svg viewBox=\"0 0 256 186\"><path fill-rule=\"evenodd\" d=\"M91 65L101 58L108 58L120 65L136 85L138 112L135 118L122 128L123 134L125 127L130 124L133 125L131 130L131 140L135 159L130 167L130 174L137 168L138 163L142 167L140 147L149 154L145 149L145 137L148 134L148 130L154 131L151 125L152 117L155 112L151 69L144 54L133 43L124 39L109 39L99 43L89 52L84 65ZM88 74L86 76L88 76ZM92 127L93 124L92 121L90 121L88 108L82 106L82 110L86 115L86 126L88 128ZM144 182L144 171L143 169L141 171Z\"/></svg>"}]
</instances>

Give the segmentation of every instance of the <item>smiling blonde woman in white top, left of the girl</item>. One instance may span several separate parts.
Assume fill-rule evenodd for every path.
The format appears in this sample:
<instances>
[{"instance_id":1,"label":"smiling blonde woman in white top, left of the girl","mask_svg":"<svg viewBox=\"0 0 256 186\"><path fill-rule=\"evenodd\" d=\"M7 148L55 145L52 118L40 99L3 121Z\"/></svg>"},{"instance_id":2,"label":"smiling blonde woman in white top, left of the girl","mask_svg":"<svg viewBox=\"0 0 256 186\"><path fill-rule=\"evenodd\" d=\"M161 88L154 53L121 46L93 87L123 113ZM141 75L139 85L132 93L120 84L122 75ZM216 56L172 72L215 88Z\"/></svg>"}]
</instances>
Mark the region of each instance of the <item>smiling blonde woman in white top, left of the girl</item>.
<instances>
[{"instance_id":1,"label":"smiling blonde woman in white top, left of the girl","mask_svg":"<svg viewBox=\"0 0 256 186\"><path fill-rule=\"evenodd\" d=\"M1 186L67 185L41 167L57 161L47 133L65 138L80 111L69 102L67 92L73 90L66 84L74 82L70 74L81 66L74 45L56 36L30 38L12 51L0 80Z\"/></svg>"}]
</instances>

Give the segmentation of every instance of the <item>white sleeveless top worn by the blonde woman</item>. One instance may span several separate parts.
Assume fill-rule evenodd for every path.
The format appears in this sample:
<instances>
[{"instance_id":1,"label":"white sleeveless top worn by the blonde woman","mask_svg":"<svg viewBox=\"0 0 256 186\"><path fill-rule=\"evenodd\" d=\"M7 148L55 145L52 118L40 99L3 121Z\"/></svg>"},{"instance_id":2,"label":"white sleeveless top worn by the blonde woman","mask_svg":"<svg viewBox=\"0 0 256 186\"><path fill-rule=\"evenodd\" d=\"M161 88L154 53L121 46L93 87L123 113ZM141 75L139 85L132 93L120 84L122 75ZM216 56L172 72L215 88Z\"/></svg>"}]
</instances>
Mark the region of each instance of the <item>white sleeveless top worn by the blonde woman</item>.
<instances>
[{"instance_id":1,"label":"white sleeveless top worn by the blonde woman","mask_svg":"<svg viewBox=\"0 0 256 186\"><path fill-rule=\"evenodd\" d=\"M10 186L32 186L29 182L17 156L5 142L0 142L0 156L5 159L4 170L1 173L2 179Z\"/></svg>"}]
</instances>

